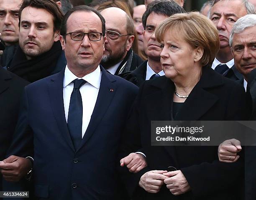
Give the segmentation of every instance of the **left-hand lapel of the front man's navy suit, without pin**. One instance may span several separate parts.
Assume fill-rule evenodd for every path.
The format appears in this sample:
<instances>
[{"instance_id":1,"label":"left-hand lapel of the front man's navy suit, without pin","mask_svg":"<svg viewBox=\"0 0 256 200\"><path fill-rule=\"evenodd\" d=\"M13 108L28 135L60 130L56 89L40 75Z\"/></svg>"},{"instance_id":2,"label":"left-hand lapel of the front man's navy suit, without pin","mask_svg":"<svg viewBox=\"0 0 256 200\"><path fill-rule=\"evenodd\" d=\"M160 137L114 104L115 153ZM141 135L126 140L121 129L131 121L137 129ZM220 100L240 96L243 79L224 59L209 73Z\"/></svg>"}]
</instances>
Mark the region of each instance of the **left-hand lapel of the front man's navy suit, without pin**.
<instances>
[{"instance_id":1,"label":"left-hand lapel of the front man's navy suit, without pin","mask_svg":"<svg viewBox=\"0 0 256 200\"><path fill-rule=\"evenodd\" d=\"M60 129L61 135L67 141L73 151L74 145L72 143L69 129L65 118L64 102L63 102L63 79L64 79L65 68L52 76L51 81L48 84L49 98L51 109L54 113L54 117Z\"/></svg>"}]
</instances>

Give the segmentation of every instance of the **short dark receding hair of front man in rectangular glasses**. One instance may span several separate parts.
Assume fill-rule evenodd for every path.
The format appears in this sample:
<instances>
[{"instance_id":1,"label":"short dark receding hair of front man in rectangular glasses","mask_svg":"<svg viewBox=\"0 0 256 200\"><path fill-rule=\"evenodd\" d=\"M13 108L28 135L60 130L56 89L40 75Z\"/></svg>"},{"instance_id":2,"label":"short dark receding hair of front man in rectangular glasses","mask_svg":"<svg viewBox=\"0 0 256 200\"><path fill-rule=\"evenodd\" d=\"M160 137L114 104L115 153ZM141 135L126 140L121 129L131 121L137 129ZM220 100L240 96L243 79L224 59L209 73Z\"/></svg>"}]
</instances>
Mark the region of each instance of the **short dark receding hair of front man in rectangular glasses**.
<instances>
[{"instance_id":1,"label":"short dark receding hair of front man in rectangular glasses","mask_svg":"<svg viewBox=\"0 0 256 200\"><path fill-rule=\"evenodd\" d=\"M68 20L69 16L76 11L93 12L96 15L98 15L101 20L101 23L102 23L102 35L105 36L106 26L105 26L105 19L102 17L102 15L92 7L89 7L87 5L78 5L74 8L72 8L71 10L69 10L66 13L66 15L64 15L64 18L61 23L61 29L60 29L60 34L64 36L64 39L66 39L66 34L67 34L66 33L67 32L67 20Z\"/></svg>"}]
</instances>

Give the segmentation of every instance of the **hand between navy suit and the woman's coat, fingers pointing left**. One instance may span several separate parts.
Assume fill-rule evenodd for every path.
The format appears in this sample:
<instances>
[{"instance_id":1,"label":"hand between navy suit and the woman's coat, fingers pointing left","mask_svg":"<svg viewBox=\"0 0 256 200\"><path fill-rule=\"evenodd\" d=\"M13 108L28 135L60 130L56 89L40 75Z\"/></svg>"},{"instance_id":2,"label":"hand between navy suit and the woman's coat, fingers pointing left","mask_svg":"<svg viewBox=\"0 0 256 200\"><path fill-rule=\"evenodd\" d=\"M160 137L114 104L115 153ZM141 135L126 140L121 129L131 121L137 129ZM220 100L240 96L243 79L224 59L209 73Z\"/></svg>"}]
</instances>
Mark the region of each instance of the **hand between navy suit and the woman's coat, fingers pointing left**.
<instances>
[{"instance_id":1,"label":"hand between navy suit and the woman's coat, fingers pointing left","mask_svg":"<svg viewBox=\"0 0 256 200\"><path fill-rule=\"evenodd\" d=\"M129 172L137 173L144 167L147 167L146 158L142 154L131 153L120 160L120 166L125 166Z\"/></svg>"}]
</instances>

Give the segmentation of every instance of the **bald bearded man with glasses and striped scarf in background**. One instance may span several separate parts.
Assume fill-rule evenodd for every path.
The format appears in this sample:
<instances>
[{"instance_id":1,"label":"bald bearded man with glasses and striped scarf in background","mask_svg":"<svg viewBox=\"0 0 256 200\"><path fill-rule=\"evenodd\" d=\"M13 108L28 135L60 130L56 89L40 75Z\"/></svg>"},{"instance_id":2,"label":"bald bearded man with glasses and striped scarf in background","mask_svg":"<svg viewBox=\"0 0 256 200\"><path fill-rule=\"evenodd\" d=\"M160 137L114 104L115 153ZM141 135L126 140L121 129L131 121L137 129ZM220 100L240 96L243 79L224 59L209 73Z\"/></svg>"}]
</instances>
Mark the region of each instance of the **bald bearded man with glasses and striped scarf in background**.
<instances>
[{"instance_id":1,"label":"bald bearded man with glasses and striped scarf in background","mask_svg":"<svg viewBox=\"0 0 256 200\"><path fill-rule=\"evenodd\" d=\"M101 11L106 20L105 51L101 65L115 75L133 71L143 61L131 49L134 40L133 20L120 8Z\"/></svg>"}]
</instances>

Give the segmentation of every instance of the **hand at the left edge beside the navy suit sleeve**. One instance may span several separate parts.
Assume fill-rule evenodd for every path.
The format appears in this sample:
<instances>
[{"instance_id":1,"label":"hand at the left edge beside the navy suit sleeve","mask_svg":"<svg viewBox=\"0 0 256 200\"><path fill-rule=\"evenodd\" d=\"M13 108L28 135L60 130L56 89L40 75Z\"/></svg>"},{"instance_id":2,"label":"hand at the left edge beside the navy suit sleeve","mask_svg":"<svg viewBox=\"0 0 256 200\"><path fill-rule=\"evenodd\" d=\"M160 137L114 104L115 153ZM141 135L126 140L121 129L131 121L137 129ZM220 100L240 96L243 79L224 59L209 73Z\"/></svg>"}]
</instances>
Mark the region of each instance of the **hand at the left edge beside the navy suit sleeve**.
<instances>
[{"instance_id":1,"label":"hand at the left edge beside the navy suit sleeve","mask_svg":"<svg viewBox=\"0 0 256 200\"><path fill-rule=\"evenodd\" d=\"M5 180L18 182L26 176L32 168L32 163L28 158L11 155L0 163L0 172Z\"/></svg>"}]
</instances>

